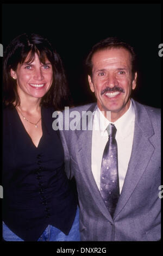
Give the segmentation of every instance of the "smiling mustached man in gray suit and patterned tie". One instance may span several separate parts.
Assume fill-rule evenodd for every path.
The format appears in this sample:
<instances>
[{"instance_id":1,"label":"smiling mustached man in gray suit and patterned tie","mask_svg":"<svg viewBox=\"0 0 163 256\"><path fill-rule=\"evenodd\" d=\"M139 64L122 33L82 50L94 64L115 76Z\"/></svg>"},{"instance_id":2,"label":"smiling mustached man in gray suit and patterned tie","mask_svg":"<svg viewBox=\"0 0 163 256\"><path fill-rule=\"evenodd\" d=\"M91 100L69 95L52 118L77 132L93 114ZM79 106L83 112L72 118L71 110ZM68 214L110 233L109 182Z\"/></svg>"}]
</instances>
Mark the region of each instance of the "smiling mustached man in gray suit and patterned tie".
<instances>
[{"instance_id":1,"label":"smiling mustached man in gray suit and patterned tie","mask_svg":"<svg viewBox=\"0 0 163 256\"><path fill-rule=\"evenodd\" d=\"M72 108L77 129L60 131L83 241L160 240L160 111L130 98L135 63L133 48L116 38L93 46L86 65L97 104ZM92 129L89 119L82 130L86 111Z\"/></svg>"}]
</instances>

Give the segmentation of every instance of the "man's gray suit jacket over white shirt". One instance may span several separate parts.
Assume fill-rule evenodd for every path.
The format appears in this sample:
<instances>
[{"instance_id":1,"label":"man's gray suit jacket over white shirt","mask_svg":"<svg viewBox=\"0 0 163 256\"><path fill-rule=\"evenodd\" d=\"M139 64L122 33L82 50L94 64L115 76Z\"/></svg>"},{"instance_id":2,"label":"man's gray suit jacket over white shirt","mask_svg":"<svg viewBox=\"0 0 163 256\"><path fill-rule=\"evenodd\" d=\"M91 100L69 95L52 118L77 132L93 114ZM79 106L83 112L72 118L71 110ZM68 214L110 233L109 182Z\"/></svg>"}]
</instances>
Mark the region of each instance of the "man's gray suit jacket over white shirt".
<instances>
[{"instance_id":1,"label":"man's gray suit jacket over white shirt","mask_svg":"<svg viewBox=\"0 0 163 256\"><path fill-rule=\"evenodd\" d=\"M126 178L113 219L91 170L91 130L60 131L68 178L75 177L82 241L160 240L160 109L133 101L135 129ZM95 111L96 104L70 111ZM79 126L78 126L79 127Z\"/></svg>"}]
</instances>

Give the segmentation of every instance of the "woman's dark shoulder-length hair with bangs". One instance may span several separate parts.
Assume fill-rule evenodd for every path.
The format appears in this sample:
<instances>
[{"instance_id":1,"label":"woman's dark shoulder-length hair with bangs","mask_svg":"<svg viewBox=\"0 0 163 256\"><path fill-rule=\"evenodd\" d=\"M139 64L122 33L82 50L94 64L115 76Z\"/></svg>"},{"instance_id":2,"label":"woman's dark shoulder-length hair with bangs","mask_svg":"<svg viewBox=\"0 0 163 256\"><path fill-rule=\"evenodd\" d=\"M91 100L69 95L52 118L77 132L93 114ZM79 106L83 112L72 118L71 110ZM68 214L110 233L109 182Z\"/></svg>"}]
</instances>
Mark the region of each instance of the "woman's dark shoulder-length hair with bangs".
<instances>
[{"instance_id":1,"label":"woman's dark shoulder-length hair with bangs","mask_svg":"<svg viewBox=\"0 0 163 256\"><path fill-rule=\"evenodd\" d=\"M51 88L42 97L41 104L56 110L64 109L71 105L70 93L67 87L65 71L59 54L53 49L46 38L38 34L22 34L13 39L4 52L3 65L3 102L5 106L11 106L16 102L20 105L20 98L17 93L16 80L10 75L10 70L16 71L17 65L22 64L28 53L28 63L34 60L35 53L38 54L40 62L45 64L47 58L53 68L53 82Z\"/></svg>"}]
</instances>

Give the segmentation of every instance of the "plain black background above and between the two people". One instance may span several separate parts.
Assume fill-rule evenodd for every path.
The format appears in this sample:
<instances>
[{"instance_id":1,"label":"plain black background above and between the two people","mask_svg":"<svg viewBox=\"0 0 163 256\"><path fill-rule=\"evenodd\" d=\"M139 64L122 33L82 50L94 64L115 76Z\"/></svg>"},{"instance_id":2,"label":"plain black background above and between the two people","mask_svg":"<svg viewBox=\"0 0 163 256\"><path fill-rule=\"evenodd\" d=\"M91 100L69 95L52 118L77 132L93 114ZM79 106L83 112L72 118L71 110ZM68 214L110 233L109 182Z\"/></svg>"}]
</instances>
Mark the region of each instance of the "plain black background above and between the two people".
<instances>
[{"instance_id":1,"label":"plain black background above and between the two people","mask_svg":"<svg viewBox=\"0 0 163 256\"><path fill-rule=\"evenodd\" d=\"M108 36L127 40L139 56L139 78L133 97L160 107L161 4L3 4L4 48L22 33L39 33L55 46L65 66L74 105L95 100L83 67L91 47Z\"/></svg>"}]
</instances>

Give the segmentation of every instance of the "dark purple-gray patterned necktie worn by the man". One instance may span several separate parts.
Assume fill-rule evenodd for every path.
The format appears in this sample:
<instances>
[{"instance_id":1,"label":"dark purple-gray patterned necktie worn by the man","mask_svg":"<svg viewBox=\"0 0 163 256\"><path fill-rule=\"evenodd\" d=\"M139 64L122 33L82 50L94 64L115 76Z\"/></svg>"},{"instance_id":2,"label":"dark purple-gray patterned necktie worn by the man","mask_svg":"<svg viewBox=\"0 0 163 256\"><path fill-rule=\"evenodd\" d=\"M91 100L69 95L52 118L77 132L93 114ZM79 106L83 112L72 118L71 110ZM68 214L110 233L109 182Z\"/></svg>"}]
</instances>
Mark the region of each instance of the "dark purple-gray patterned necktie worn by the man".
<instances>
[{"instance_id":1,"label":"dark purple-gray patterned necktie worn by the man","mask_svg":"<svg viewBox=\"0 0 163 256\"><path fill-rule=\"evenodd\" d=\"M114 124L109 124L106 131L108 132L109 139L103 153L100 192L111 217L113 217L118 198L120 197L117 142L115 139L117 130Z\"/></svg>"}]
</instances>

